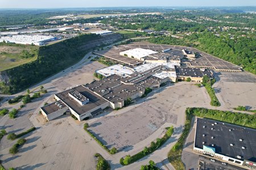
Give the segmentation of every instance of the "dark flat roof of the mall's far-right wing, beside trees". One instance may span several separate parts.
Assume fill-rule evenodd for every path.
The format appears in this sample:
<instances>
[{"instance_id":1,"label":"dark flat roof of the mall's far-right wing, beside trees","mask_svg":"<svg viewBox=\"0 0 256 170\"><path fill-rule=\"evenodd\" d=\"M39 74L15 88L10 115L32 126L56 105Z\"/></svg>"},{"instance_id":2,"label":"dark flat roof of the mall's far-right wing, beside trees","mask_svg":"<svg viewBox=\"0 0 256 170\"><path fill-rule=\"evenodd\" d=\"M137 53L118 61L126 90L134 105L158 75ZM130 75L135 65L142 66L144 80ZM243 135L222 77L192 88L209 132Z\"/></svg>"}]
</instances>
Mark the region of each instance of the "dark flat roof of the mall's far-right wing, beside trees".
<instances>
[{"instance_id":1,"label":"dark flat roof of the mall's far-right wing, beside trees","mask_svg":"<svg viewBox=\"0 0 256 170\"><path fill-rule=\"evenodd\" d=\"M208 75L209 78L213 78L212 73L208 69L198 69L191 67L175 67L177 76L191 76L191 77L203 77Z\"/></svg>"}]
</instances>

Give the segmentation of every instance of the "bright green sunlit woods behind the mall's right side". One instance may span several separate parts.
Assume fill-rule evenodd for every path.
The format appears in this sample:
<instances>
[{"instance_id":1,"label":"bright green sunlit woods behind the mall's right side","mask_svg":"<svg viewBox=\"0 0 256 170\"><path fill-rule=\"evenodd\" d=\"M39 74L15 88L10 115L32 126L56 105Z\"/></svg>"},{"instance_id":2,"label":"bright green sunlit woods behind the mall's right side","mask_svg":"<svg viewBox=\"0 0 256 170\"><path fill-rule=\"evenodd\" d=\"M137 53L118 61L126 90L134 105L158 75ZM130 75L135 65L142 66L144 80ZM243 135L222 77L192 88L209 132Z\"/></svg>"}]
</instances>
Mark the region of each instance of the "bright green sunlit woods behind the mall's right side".
<instances>
[{"instance_id":1,"label":"bright green sunlit woods behind the mall's right side","mask_svg":"<svg viewBox=\"0 0 256 170\"><path fill-rule=\"evenodd\" d=\"M225 35L216 36L211 32L204 31L202 33L193 33L191 36L184 36L183 39L167 36L153 37L150 42L193 46L256 74L256 35L253 33L250 36L250 38L241 36L230 39Z\"/></svg>"}]
</instances>

